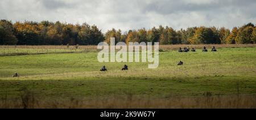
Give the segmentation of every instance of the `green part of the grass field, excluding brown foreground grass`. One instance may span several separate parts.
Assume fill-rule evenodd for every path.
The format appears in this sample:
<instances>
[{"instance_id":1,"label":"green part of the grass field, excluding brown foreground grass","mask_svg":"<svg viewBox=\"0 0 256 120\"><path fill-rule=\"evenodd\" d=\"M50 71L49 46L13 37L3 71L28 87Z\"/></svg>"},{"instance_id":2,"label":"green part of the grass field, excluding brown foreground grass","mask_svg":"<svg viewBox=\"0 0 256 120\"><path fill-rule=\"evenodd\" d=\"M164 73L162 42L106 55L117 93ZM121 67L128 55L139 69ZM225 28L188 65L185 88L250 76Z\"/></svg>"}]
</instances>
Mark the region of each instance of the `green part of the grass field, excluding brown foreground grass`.
<instances>
[{"instance_id":1,"label":"green part of the grass field, excluding brown foreground grass","mask_svg":"<svg viewBox=\"0 0 256 120\"><path fill-rule=\"evenodd\" d=\"M0 98L19 98L27 86L49 98L256 94L256 48L218 52L160 52L159 67L148 63L98 63L97 52L0 56ZM183 66L177 66L178 61ZM129 71L121 71L124 64ZM100 72L106 65L108 72ZM18 72L20 77L11 77ZM239 88L239 90L238 90Z\"/></svg>"}]
</instances>

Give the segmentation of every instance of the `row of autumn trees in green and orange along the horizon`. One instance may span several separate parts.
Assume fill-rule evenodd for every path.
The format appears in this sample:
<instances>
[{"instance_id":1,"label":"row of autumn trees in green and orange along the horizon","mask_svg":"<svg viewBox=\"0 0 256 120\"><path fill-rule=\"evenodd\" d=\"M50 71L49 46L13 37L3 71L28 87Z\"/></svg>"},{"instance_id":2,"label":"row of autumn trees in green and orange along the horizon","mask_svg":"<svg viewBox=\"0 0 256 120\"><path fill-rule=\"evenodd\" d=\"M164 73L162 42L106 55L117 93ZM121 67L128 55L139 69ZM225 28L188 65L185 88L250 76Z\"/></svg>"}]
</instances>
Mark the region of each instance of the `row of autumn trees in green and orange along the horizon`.
<instances>
[{"instance_id":1,"label":"row of autumn trees in green and orange along the horizon","mask_svg":"<svg viewBox=\"0 0 256 120\"><path fill-rule=\"evenodd\" d=\"M16 22L0 20L1 45L97 45L100 42L159 42L159 44L249 44L256 43L256 26L253 23L241 27L189 27L174 30L159 26L150 30L107 31L105 34L95 25L60 22Z\"/></svg>"}]
</instances>

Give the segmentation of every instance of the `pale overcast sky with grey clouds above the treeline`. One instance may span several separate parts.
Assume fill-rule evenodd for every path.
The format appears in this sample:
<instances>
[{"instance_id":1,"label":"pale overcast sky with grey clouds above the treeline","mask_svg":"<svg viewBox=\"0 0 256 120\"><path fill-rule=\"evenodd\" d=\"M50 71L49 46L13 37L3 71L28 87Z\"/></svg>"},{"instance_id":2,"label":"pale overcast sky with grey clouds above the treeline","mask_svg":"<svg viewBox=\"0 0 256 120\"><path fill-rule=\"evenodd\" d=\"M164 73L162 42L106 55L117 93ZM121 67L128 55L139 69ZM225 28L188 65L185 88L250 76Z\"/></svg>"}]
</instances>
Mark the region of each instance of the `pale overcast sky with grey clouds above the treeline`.
<instances>
[{"instance_id":1,"label":"pale overcast sky with grey clouds above the treeline","mask_svg":"<svg viewBox=\"0 0 256 120\"><path fill-rule=\"evenodd\" d=\"M1 0L0 19L96 24L103 32L256 23L256 0Z\"/></svg>"}]
</instances>

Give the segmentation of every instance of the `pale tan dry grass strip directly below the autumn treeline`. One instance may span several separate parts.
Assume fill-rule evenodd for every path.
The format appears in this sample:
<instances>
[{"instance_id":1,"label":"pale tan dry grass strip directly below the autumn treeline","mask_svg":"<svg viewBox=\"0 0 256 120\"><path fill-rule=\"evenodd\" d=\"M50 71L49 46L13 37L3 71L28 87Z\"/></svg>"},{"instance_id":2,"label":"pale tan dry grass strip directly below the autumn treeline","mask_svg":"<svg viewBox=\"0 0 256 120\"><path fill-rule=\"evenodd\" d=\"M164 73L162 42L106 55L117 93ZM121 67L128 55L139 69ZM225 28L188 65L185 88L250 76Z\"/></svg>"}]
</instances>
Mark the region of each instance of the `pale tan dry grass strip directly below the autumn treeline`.
<instances>
[{"instance_id":1,"label":"pale tan dry grass strip directly below the autumn treeline","mask_svg":"<svg viewBox=\"0 0 256 120\"><path fill-rule=\"evenodd\" d=\"M237 48L237 47L256 47L256 44L175 44L159 45L159 50L172 51L180 47L202 49L203 47L212 48ZM7 55L32 55L45 53L76 53L98 51L97 45L0 45L0 56Z\"/></svg>"}]
</instances>

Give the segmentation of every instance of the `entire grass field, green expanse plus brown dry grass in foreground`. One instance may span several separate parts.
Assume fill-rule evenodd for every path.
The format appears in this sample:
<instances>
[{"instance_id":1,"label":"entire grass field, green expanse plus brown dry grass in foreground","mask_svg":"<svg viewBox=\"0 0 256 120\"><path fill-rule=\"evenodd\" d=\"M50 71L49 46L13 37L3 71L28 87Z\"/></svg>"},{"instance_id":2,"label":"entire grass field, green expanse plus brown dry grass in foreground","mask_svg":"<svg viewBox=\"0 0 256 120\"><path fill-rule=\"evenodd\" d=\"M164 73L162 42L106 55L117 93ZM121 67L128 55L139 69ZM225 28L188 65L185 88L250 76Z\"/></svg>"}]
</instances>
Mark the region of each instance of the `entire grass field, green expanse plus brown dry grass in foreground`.
<instances>
[{"instance_id":1,"label":"entire grass field, green expanse plus brown dry grass in foreground","mask_svg":"<svg viewBox=\"0 0 256 120\"><path fill-rule=\"evenodd\" d=\"M22 107L31 98L37 107L256 107L254 45L188 53L164 47L156 69L98 63L97 51L0 56L0 107ZM124 64L129 71L121 71ZM107 72L99 71L103 65ZM19 77L11 77L15 72Z\"/></svg>"}]
</instances>

